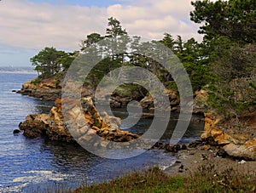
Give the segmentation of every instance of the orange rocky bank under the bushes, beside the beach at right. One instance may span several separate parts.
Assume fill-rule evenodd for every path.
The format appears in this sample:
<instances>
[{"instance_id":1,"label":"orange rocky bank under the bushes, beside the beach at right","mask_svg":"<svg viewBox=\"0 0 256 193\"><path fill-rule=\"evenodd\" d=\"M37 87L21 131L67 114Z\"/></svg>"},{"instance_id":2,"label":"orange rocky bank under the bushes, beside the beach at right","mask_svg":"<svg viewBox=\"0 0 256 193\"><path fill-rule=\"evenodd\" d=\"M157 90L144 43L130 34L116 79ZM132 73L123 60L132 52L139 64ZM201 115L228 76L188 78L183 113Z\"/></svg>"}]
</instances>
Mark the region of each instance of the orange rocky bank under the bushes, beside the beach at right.
<instances>
[{"instance_id":1,"label":"orange rocky bank under the bushes, beside the beach at right","mask_svg":"<svg viewBox=\"0 0 256 193\"><path fill-rule=\"evenodd\" d=\"M224 121L222 117L205 113L205 131L201 139L212 145L219 145L230 156L256 160L256 112L241 116L238 121L246 123L236 128L234 120ZM232 123L231 123L232 122Z\"/></svg>"}]
</instances>

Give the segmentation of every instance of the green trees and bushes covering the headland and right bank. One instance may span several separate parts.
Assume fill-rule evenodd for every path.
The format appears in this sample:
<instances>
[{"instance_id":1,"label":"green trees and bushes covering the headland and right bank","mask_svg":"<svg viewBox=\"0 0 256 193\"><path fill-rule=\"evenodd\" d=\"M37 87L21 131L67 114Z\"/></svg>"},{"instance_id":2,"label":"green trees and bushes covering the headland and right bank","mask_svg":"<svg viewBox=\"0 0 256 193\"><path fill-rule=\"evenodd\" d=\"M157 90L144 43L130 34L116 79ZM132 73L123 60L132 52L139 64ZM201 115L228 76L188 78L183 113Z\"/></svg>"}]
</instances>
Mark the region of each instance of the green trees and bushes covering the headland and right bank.
<instances>
[{"instance_id":1,"label":"green trees and bushes covering the headland and right bank","mask_svg":"<svg viewBox=\"0 0 256 193\"><path fill-rule=\"evenodd\" d=\"M177 82L183 84L187 80L177 76L177 82L174 82L165 67L147 55L154 55L171 65L178 58L188 72L193 90L207 89L210 108L217 109L226 116L247 111L247 107L255 105L256 100L256 82L253 77L256 74L256 36L255 26L253 27L255 3L252 0L202 0L195 1L192 5L195 10L190 13L191 20L200 23L202 26L199 32L205 34L202 43L196 42L195 38L183 41L182 37L177 36L174 39L168 33L160 41L141 43L141 37L128 37L119 20L109 18L105 35L91 33L82 41L81 52L86 57L77 62L83 64L86 70L91 61L100 61L90 70L84 85L96 88L102 77L108 75L111 79L113 70L131 65L152 72L166 88L177 90ZM103 39L104 43L101 41ZM166 59L162 50L155 49L158 43L170 48L175 54L173 58ZM127 53L127 48L130 48L130 53ZM55 75L57 81L60 81L62 72L67 71L78 54L79 52L67 54L55 48L44 48L31 61L41 77ZM172 72L178 75L181 69L181 65L178 65ZM150 82L150 77L142 81ZM142 88L130 84L121 86L115 92L124 97L147 94Z\"/></svg>"}]
</instances>

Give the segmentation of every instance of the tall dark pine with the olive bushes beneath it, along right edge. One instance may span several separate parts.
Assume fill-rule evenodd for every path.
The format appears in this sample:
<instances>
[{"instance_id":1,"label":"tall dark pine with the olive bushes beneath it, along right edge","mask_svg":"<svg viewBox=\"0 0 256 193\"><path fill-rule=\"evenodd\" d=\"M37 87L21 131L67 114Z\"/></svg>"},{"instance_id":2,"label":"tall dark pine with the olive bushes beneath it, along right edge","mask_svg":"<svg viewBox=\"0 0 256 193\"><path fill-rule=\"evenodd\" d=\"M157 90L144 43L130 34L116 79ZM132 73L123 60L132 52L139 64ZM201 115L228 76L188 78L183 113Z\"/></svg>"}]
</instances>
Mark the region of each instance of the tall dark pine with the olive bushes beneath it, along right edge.
<instances>
[{"instance_id":1,"label":"tall dark pine with the olive bushes beneath it, along right edge","mask_svg":"<svg viewBox=\"0 0 256 193\"><path fill-rule=\"evenodd\" d=\"M202 25L199 33L206 34L201 51L207 71L214 76L208 82L208 106L227 117L247 112L256 99L249 83L255 82L256 73L256 4L253 0L202 0L192 5L190 19Z\"/></svg>"}]
</instances>

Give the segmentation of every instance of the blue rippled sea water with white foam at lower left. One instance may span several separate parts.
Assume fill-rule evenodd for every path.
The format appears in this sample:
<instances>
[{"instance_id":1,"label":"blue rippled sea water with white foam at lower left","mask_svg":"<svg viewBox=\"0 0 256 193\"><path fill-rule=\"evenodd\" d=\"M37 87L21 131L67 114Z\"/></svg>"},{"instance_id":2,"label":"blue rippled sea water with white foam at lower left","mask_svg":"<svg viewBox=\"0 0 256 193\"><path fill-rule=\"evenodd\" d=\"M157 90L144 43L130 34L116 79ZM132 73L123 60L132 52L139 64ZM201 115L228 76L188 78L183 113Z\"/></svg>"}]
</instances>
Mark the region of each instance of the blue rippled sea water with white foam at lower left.
<instances>
[{"instance_id":1,"label":"blue rippled sea water with white foam at lower left","mask_svg":"<svg viewBox=\"0 0 256 193\"><path fill-rule=\"evenodd\" d=\"M99 183L135 169L156 164L167 167L175 162L174 157L160 150L148 150L126 160L108 160L90 154L79 145L14 135L13 130L27 114L47 113L53 105L12 92L34 77L35 74L0 72L0 192L45 192L62 186L74 189L79 184ZM142 133L150 122L142 120L133 131ZM127 127L122 125L122 128ZM201 123L191 124L183 141L198 138L201 129Z\"/></svg>"}]
</instances>

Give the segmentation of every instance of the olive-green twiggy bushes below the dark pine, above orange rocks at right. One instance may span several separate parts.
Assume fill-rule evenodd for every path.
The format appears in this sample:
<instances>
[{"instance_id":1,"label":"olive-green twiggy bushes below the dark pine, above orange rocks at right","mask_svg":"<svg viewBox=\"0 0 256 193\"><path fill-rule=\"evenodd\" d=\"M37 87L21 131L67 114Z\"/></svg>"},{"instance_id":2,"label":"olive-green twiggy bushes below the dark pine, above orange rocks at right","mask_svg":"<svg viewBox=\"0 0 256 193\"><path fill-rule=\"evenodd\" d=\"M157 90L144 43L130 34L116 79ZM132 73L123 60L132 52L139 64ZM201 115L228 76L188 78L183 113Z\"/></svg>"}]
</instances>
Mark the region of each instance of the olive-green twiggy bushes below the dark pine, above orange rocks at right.
<instances>
[{"instance_id":1,"label":"olive-green twiggy bushes below the dark pine, above orange rocks at right","mask_svg":"<svg viewBox=\"0 0 256 193\"><path fill-rule=\"evenodd\" d=\"M212 41L216 48L212 51L210 69L216 81L207 88L208 105L220 115L239 116L255 106L256 91L251 85L256 81L256 46L221 40L225 41Z\"/></svg>"}]
</instances>

